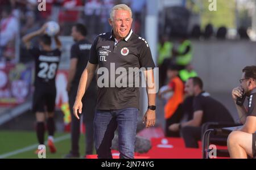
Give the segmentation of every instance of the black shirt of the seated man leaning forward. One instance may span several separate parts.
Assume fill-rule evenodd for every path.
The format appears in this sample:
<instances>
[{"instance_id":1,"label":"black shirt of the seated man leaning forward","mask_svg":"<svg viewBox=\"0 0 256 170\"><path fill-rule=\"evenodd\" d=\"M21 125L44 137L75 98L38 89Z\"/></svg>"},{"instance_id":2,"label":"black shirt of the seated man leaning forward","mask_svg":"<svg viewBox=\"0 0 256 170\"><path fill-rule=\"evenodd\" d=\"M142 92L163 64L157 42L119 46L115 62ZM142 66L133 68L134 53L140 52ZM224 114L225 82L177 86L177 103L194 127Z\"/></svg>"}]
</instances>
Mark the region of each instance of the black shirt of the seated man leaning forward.
<instances>
[{"instance_id":1,"label":"black shirt of the seated man leaning forward","mask_svg":"<svg viewBox=\"0 0 256 170\"><path fill-rule=\"evenodd\" d=\"M210 97L207 92L194 97L193 109L195 111L203 111L203 120L205 122L234 122L228 109L219 101Z\"/></svg>"}]
</instances>

